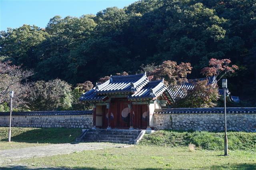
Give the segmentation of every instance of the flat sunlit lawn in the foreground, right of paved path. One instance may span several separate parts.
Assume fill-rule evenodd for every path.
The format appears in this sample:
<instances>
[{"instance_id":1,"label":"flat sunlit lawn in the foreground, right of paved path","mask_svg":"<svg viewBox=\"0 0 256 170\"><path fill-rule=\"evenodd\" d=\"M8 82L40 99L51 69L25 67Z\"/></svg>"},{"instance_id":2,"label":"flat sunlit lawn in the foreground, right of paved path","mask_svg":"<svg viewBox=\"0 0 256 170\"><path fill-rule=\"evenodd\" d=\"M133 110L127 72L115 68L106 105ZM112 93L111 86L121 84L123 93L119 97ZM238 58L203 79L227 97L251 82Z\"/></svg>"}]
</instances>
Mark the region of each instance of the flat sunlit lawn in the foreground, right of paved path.
<instances>
[{"instance_id":1,"label":"flat sunlit lawn in the foreground, right of paved path","mask_svg":"<svg viewBox=\"0 0 256 170\"><path fill-rule=\"evenodd\" d=\"M19 168L41 170L52 168L62 170L255 170L255 151L230 151L230 156L222 156L223 151L196 150L188 147L132 146L74 152L42 158L13 161L23 165ZM6 168L8 169L8 168Z\"/></svg>"}]
</instances>

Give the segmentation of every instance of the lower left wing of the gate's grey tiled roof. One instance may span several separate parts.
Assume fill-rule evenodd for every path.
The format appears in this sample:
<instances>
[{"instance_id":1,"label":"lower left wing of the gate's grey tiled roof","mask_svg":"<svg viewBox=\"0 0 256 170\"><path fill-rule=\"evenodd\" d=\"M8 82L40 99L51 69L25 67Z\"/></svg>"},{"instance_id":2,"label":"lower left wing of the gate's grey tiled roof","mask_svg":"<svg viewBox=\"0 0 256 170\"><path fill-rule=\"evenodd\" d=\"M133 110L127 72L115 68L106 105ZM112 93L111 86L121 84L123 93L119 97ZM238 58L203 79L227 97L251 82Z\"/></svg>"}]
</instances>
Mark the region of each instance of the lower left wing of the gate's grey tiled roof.
<instances>
[{"instance_id":1,"label":"lower left wing of the gate's grey tiled roof","mask_svg":"<svg viewBox=\"0 0 256 170\"><path fill-rule=\"evenodd\" d=\"M95 87L94 87L92 90L89 90L88 92L82 94L79 100L97 102L97 101L103 101L107 97L108 97L107 95L98 95L97 90L95 90Z\"/></svg>"}]
</instances>

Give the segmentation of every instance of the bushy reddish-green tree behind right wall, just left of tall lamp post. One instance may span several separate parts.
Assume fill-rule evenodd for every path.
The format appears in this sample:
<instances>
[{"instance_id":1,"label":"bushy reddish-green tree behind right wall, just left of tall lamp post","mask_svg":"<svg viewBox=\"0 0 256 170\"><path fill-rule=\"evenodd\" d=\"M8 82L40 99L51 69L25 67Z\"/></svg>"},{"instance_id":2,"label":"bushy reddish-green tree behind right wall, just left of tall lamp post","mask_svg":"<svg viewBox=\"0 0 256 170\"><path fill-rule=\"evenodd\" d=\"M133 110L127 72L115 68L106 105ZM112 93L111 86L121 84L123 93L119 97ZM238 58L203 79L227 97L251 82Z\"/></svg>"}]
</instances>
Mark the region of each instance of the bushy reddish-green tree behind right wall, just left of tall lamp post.
<instances>
[{"instance_id":1,"label":"bushy reddish-green tree behind right wall, just left of tall lamp post","mask_svg":"<svg viewBox=\"0 0 256 170\"><path fill-rule=\"evenodd\" d=\"M208 80L195 82L194 88L185 90L184 93L184 96L175 102L176 108L214 107L219 98L217 84L209 84Z\"/></svg>"}]
</instances>

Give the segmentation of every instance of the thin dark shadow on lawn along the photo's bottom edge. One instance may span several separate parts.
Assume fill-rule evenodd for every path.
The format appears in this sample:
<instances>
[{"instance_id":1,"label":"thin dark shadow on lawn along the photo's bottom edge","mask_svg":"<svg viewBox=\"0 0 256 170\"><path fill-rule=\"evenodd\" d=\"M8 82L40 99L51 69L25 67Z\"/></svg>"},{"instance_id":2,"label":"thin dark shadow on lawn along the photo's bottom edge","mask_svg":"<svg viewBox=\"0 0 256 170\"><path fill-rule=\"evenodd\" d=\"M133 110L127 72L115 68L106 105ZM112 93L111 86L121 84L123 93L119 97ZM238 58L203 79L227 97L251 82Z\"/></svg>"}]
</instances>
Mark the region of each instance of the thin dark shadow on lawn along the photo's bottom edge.
<instances>
[{"instance_id":1,"label":"thin dark shadow on lawn along the photo's bottom edge","mask_svg":"<svg viewBox=\"0 0 256 170\"><path fill-rule=\"evenodd\" d=\"M159 170L160 168L138 168L135 170ZM163 168L165 170L171 170L170 168ZM220 166L207 166L202 169L210 169L210 170L256 170L256 164L226 164ZM54 167L54 168L33 168L27 166L10 166L10 167L0 167L0 170L113 170L107 168L92 168L92 167L82 167L82 168L66 168L66 167ZM176 170L185 170L185 169L176 169Z\"/></svg>"}]
</instances>

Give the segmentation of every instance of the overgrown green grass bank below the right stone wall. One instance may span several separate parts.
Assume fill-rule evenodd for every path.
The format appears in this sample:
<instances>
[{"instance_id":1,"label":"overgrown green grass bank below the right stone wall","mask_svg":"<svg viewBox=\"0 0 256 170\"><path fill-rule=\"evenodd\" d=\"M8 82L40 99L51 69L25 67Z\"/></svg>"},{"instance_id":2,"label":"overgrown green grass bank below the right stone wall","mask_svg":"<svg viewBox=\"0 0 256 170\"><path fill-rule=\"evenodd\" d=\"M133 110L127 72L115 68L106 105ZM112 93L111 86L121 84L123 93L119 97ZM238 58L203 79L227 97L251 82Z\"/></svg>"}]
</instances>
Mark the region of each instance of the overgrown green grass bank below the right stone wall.
<instances>
[{"instance_id":1,"label":"overgrown green grass bank below the right stone wall","mask_svg":"<svg viewBox=\"0 0 256 170\"><path fill-rule=\"evenodd\" d=\"M141 145L170 147L188 146L190 143L205 150L222 150L224 133L159 130L146 134L140 141ZM256 150L256 133L228 132L228 147L230 150Z\"/></svg>"}]
</instances>

